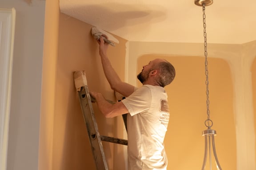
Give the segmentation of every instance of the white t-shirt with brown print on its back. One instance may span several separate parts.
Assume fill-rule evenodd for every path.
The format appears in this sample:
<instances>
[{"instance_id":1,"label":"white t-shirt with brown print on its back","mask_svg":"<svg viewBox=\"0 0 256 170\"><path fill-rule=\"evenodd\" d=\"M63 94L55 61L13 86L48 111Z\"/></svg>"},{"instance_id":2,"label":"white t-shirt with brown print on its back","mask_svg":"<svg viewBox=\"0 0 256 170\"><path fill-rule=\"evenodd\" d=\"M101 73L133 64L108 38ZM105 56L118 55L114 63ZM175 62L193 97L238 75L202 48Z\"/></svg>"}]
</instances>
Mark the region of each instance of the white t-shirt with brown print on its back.
<instances>
[{"instance_id":1,"label":"white t-shirt with brown print on its back","mask_svg":"<svg viewBox=\"0 0 256 170\"><path fill-rule=\"evenodd\" d=\"M164 88L144 85L122 102L130 113L127 116L128 169L166 170L164 136L169 111Z\"/></svg>"}]
</instances>

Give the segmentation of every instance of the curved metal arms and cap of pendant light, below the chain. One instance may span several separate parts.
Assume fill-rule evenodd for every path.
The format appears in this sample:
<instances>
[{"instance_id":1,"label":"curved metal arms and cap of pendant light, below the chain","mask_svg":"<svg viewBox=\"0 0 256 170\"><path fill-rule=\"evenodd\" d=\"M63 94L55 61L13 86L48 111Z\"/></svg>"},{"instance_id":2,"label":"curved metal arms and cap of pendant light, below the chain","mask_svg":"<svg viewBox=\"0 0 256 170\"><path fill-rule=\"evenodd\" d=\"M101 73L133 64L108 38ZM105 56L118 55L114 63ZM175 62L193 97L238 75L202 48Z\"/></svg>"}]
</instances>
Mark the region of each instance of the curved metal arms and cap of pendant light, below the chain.
<instances>
[{"instance_id":1,"label":"curved metal arms and cap of pendant light, below the chain","mask_svg":"<svg viewBox=\"0 0 256 170\"><path fill-rule=\"evenodd\" d=\"M208 128L207 130L203 131L202 135L204 136L204 162L202 170L222 170L220 167L219 160L217 158L214 141L216 130ZM212 152L214 157L212 157ZM215 163L216 166L212 166L213 163ZM212 167L215 167L216 169L213 169Z\"/></svg>"}]
</instances>

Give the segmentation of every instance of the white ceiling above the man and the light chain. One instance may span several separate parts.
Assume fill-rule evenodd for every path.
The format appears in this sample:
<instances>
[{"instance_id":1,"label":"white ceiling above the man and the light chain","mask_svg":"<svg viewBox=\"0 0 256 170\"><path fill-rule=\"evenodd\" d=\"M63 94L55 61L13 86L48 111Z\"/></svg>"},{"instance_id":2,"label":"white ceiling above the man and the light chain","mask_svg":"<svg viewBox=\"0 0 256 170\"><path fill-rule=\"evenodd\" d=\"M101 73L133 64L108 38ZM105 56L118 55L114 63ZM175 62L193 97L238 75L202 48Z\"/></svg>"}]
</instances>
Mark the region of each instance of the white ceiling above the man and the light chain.
<instances>
[{"instance_id":1,"label":"white ceiling above the man and the light chain","mask_svg":"<svg viewBox=\"0 0 256 170\"><path fill-rule=\"evenodd\" d=\"M194 0L60 0L60 11L128 41L204 41ZM214 0L205 13L208 43L256 40L256 0Z\"/></svg>"}]
</instances>

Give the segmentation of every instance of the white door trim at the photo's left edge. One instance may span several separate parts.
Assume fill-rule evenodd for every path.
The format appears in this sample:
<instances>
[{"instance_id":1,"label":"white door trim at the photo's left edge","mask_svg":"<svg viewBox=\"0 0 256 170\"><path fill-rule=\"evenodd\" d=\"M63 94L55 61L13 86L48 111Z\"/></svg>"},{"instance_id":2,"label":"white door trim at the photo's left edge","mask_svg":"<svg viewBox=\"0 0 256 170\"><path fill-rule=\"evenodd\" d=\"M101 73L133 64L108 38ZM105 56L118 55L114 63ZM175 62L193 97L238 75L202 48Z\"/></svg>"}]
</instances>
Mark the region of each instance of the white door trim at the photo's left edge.
<instances>
[{"instance_id":1,"label":"white door trim at the photo's left edge","mask_svg":"<svg viewBox=\"0 0 256 170\"><path fill-rule=\"evenodd\" d=\"M16 11L0 8L0 170L6 170Z\"/></svg>"}]
</instances>

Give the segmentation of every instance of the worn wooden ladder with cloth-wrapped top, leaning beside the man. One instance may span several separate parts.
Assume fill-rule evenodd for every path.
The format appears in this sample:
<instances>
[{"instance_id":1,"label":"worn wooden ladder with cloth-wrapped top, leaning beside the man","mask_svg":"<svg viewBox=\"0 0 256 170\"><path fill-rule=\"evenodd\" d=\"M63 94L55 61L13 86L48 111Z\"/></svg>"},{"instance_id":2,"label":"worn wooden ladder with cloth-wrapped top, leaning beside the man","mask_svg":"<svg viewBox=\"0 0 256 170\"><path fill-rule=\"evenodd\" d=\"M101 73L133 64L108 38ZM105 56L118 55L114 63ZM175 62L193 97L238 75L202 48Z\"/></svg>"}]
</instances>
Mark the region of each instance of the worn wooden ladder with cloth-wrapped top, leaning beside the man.
<instances>
[{"instance_id":1,"label":"worn wooden ladder with cloth-wrapped top, leaning beside the man","mask_svg":"<svg viewBox=\"0 0 256 170\"><path fill-rule=\"evenodd\" d=\"M108 170L108 164L101 141L128 145L128 140L100 135L94 111L92 108L92 101L94 99L91 98L88 90L85 71L75 71L74 82L76 86L76 91L79 95L80 106L83 112L84 122L86 124L96 168L97 170ZM123 115L123 119L127 130L126 116L127 115Z\"/></svg>"}]
</instances>

